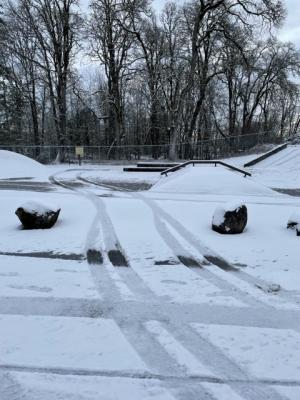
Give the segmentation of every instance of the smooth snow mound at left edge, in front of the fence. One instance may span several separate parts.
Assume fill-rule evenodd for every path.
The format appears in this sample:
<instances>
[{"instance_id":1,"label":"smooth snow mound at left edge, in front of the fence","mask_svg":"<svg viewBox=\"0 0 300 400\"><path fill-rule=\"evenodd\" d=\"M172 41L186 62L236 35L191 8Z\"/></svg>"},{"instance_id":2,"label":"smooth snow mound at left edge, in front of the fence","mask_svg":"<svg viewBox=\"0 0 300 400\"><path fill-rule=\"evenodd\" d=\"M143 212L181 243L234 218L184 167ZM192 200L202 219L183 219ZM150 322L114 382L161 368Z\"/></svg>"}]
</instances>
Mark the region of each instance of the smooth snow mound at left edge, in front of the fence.
<instances>
[{"instance_id":1,"label":"smooth snow mound at left edge, in front of the fence","mask_svg":"<svg viewBox=\"0 0 300 400\"><path fill-rule=\"evenodd\" d=\"M39 178L47 179L44 165L12 151L0 150L0 179Z\"/></svg>"}]
</instances>

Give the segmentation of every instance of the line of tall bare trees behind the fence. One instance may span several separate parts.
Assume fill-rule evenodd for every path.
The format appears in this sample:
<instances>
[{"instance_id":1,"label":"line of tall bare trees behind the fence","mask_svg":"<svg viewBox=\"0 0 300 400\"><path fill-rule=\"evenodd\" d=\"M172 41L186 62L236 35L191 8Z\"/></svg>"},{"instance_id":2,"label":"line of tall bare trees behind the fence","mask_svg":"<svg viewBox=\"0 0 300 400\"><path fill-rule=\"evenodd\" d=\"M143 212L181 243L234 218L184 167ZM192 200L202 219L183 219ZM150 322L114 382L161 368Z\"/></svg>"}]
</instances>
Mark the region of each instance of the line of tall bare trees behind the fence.
<instances>
[{"instance_id":1,"label":"line of tall bare trees behind the fence","mask_svg":"<svg viewBox=\"0 0 300 400\"><path fill-rule=\"evenodd\" d=\"M0 145L169 144L300 123L278 0L14 0L0 14ZM90 63L84 73L81 59ZM155 151L155 150L154 150Z\"/></svg>"}]
</instances>

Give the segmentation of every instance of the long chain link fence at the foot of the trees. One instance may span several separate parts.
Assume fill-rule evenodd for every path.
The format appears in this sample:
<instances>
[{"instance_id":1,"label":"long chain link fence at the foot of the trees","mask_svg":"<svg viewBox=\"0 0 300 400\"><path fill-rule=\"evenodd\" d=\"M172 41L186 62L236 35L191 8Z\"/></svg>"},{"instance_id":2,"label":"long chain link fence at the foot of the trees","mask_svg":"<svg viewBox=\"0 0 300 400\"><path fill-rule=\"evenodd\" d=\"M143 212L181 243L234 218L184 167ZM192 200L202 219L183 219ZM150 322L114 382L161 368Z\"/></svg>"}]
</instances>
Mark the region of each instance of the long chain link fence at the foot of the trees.
<instances>
[{"instance_id":1,"label":"long chain link fence at the foot of the trees","mask_svg":"<svg viewBox=\"0 0 300 400\"><path fill-rule=\"evenodd\" d=\"M178 160L211 160L230 157L239 154L248 154L258 151L258 146L263 144L280 144L282 137L274 134L255 133L231 136L219 139L202 140L197 143L179 143L176 145ZM79 149L78 151L78 147ZM77 148L77 149L76 149ZM33 158L44 164L58 160L67 163L77 163L78 155L86 163L99 163L109 161L153 161L169 159L169 144L162 145L122 145L122 146L28 146L11 145L0 146L2 150L14 151ZM59 155L59 157L58 157Z\"/></svg>"}]
</instances>

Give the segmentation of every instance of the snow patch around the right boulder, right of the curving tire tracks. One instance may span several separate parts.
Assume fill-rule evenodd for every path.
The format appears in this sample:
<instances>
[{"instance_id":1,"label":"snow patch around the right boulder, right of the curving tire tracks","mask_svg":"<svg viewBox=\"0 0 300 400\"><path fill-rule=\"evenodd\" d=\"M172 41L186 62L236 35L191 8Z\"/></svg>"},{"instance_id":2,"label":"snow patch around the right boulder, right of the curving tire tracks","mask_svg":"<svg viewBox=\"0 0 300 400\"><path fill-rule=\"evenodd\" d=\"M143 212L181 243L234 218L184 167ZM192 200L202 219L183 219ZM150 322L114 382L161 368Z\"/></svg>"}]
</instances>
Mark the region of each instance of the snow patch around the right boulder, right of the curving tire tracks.
<instances>
[{"instance_id":1,"label":"snow patch around the right boulder, right of the curving tire tracks","mask_svg":"<svg viewBox=\"0 0 300 400\"><path fill-rule=\"evenodd\" d=\"M278 283L285 289L299 289L299 237L286 229L291 210L299 207L299 202L294 198L280 202L263 198L261 204L257 204L249 197L246 199L247 229L243 235L225 237L211 230L211 216L220 199L213 201L201 196L201 199L191 200L191 197L188 202L160 199L157 204L169 215L176 216L190 234L202 238L207 251L214 249L233 265L248 267L248 274ZM224 202L227 200L225 198Z\"/></svg>"}]
</instances>

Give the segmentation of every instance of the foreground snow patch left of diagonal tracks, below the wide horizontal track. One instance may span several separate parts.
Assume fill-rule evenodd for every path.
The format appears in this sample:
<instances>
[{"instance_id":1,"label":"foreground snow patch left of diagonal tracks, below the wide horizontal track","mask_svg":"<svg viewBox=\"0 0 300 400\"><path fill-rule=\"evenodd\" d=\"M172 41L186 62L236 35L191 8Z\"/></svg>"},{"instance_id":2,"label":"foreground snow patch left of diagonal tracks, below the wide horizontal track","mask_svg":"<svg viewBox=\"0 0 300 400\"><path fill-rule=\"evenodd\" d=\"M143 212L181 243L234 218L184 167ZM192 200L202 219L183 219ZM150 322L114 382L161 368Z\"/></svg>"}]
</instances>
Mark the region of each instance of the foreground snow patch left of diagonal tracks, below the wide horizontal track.
<instances>
[{"instance_id":1,"label":"foreground snow patch left of diagonal tracks, below the wide horizontal track","mask_svg":"<svg viewBox=\"0 0 300 400\"><path fill-rule=\"evenodd\" d=\"M2 365L70 373L148 370L110 319L0 315L0 331Z\"/></svg>"}]
</instances>

